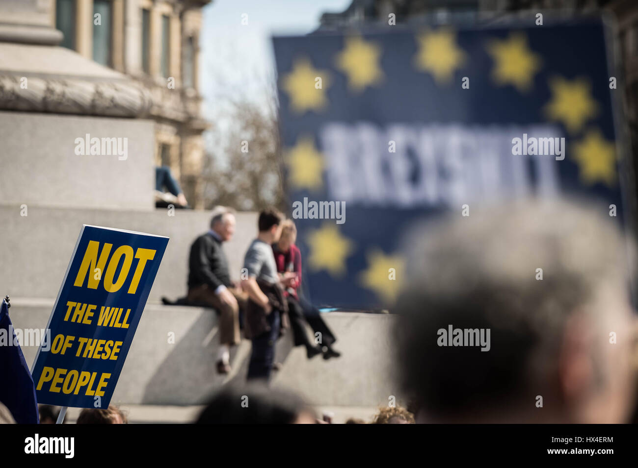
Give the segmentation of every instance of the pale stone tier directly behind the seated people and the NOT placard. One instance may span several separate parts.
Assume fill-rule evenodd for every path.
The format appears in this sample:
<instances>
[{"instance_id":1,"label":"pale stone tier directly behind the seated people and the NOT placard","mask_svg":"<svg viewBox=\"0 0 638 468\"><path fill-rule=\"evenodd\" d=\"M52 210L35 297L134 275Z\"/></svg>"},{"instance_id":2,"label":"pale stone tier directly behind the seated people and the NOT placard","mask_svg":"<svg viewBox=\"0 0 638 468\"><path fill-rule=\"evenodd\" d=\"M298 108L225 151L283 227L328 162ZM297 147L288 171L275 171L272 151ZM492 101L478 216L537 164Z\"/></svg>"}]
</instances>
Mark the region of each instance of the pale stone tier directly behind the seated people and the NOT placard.
<instances>
[{"instance_id":1,"label":"pale stone tier directly behind the seated people and the NOT placard","mask_svg":"<svg viewBox=\"0 0 638 468\"><path fill-rule=\"evenodd\" d=\"M167 250L149 295L158 302L163 295L186 294L188 253L193 240L209 229L209 211L167 209L119 211L108 209L40 208L28 209L0 205L2 268L0 292L11 297L55 298L64 278L82 224L137 230L168 236ZM239 280L244 253L257 231L256 213L237 213L235 238L225 245L231 276Z\"/></svg>"}]
</instances>

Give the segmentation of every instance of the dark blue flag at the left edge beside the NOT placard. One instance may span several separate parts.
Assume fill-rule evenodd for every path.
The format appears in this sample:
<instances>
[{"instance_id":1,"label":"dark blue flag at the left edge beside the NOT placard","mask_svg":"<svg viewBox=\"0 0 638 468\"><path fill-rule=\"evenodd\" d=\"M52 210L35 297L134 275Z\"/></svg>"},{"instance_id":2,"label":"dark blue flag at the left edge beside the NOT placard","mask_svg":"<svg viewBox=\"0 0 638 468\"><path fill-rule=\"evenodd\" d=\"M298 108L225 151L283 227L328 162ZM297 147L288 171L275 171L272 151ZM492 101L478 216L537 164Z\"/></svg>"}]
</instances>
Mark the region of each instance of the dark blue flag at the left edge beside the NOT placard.
<instances>
[{"instance_id":1,"label":"dark blue flag at the left edge beside the NOT placard","mask_svg":"<svg viewBox=\"0 0 638 468\"><path fill-rule=\"evenodd\" d=\"M38 424L38 401L31 372L13 332L9 308L4 300L0 302L0 402L11 411L15 422Z\"/></svg>"}]
</instances>

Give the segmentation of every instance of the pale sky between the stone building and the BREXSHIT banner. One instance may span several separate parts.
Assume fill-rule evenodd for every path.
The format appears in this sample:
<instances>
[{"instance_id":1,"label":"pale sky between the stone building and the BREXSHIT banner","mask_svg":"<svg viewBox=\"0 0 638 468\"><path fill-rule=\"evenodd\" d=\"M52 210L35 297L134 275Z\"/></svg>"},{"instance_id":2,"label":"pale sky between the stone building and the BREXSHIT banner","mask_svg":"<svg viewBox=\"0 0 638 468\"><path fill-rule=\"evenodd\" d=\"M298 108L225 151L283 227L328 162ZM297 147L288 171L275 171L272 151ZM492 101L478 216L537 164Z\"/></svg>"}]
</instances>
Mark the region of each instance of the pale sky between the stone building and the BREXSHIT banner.
<instances>
[{"instance_id":1,"label":"pale sky between the stone building and the BREXSHIT banner","mask_svg":"<svg viewBox=\"0 0 638 468\"><path fill-rule=\"evenodd\" d=\"M325 11L345 10L352 0L213 0L204 7L200 36L202 111L223 113L226 97L265 100L274 78L272 35L308 34ZM242 19L248 24L243 25Z\"/></svg>"}]
</instances>

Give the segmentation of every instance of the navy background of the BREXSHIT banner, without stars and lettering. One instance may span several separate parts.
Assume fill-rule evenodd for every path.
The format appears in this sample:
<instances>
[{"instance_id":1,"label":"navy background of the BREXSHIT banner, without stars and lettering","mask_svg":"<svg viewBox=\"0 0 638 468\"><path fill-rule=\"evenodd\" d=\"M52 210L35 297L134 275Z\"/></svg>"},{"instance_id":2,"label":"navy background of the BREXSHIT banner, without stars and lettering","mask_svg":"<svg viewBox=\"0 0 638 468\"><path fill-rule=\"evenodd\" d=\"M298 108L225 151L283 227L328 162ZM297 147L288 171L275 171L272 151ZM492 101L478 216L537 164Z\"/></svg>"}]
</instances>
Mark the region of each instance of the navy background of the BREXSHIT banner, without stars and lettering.
<instances>
[{"instance_id":1,"label":"navy background of the BREXSHIT banner, without stars and lettering","mask_svg":"<svg viewBox=\"0 0 638 468\"><path fill-rule=\"evenodd\" d=\"M324 164L326 148L322 146L321 132L325 126L338 122L357 125L366 122L380 128L393 124L449 125L459 124L505 129L512 125L554 125L567 139L567 157L556 161L560 182L560 194L585 195L615 204L618 220L623 220L623 204L618 167L614 183L584 181L582 164L574 159L570 149L584 141L586 134L594 130L604 141L615 145L618 139L614 129L612 93L609 78L616 76L609 71L604 25L598 20L581 24L529 25L526 27L493 27L491 29L447 29L452 42L464 55L462 64L454 68L447 83L441 83L434 74L415 66L420 53L419 38L437 28L399 29L385 27L364 29L350 36L339 33L311 34L299 37L273 39L278 70L279 122L283 149L283 173L286 178L288 206L308 197L311 201L330 201L323 167L320 187L304 188L291 183L290 153L300 138L307 136L315 149L322 154ZM521 90L511 83L495 82L493 55L489 44L507 41L512 34L523 36L526 48L540 59L537 71L531 74L530 87ZM379 52L378 67L382 79L361 90L349 86L349 76L339 66L339 55L346 50L348 39L357 37L374 45ZM361 57L361 54L359 54ZM295 109L295 94L288 80L295 73L300 60L306 60L316 76L323 76L323 106ZM311 74L309 73L309 76ZM461 80L470 79L470 89L461 87ZM590 97L595 102L595 116L586 119L582 128L572 131L565 122L551 120L547 106L554 98L552 80L585 80ZM308 82L309 87L315 83ZM387 152L387 141L385 141ZM618 148L618 146L616 146ZM365 157L362 149L362 157ZM410 157L413 157L409 155ZM516 156L511 156L516 157ZM415 169L416 171L416 169ZM359 174L353 171L352 183L360 183ZM422 174L414 174L422 177ZM445 174L441 175L445 178ZM533 179L533 178L532 178ZM531 181L535 183L535 180ZM410 181L406 181L410 183ZM503 200L505 201L505 200ZM468 199L468 204L475 200ZM450 209L449 206L415 204L412 206L375 206L374 204L346 203L346 222L336 225L334 220L295 219L299 245L304 259L304 290L311 301L321 306L373 309L389 306L387 296L379 290L362 284L361 274L370 266L369 252L378 250L384 255L399 251L401 234L417 219ZM461 205L454 206L461 211ZM290 208L292 211L292 208ZM343 274L330 269L313 267L312 235L331 223L351 250L343 258ZM316 254L316 252L314 252Z\"/></svg>"}]
</instances>

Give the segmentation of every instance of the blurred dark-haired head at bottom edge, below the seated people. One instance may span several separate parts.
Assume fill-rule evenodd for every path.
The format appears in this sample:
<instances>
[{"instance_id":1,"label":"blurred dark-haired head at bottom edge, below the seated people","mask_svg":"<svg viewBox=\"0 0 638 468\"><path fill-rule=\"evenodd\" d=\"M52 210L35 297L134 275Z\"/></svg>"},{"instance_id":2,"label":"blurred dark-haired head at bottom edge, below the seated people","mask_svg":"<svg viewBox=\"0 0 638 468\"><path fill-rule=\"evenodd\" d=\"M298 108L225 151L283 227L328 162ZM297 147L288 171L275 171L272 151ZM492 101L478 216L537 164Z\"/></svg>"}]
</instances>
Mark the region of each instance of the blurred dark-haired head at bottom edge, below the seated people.
<instances>
[{"instance_id":1,"label":"blurred dark-haired head at bottom edge, below the seated people","mask_svg":"<svg viewBox=\"0 0 638 468\"><path fill-rule=\"evenodd\" d=\"M197 424L314 424L316 416L296 395L266 386L225 388L215 394Z\"/></svg>"}]
</instances>

